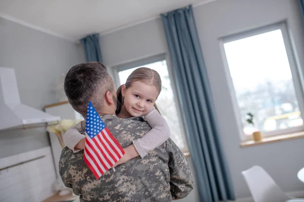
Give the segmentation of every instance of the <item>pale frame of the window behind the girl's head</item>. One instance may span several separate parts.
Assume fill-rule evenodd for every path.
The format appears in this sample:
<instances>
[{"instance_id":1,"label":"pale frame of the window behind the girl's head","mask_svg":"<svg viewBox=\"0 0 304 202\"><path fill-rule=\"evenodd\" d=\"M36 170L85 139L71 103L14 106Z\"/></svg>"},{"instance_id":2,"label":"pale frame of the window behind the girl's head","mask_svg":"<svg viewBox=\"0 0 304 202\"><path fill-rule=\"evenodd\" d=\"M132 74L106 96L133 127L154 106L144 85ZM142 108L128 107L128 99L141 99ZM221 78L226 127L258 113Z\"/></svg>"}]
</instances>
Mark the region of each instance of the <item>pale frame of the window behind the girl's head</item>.
<instances>
[{"instance_id":1,"label":"pale frame of the window behind the girl's head","mask_svg":"<svg viewBox=\"0 0 304 202\"><path fill-rule=\"evenodd\" d=\"M173 94L174 94L174 97L175 97L174 101L175 101L175 104L176 104L177 116L178 116L178 118L180 120L180 123L181 123L181 126L180 126L181 138L182 138L182 141L185 143L185 147L183 149L181 149L181 148L180 149L184 154L187 154L187 153L189 153L189 146L188 146L187 137L186 137L186 133L185 133L185 125L184 125L185 123L184 123L184 120L183 120L182 115L181 115L181 107L180 107L180 103L179 103L179 100L178 100L178 97L177 97L177 88L176 88L176 84L175 84L175 80L174 80L174 76L173 76L173 70L171 68L171 64L169 62L170 60L169 60L168 55L167 54L159 54L159 55L149 56L149 57L134 60L134 61L131 61L131 62L126 62L126 63L122 63L122 64L119 64L119 65L115 65L115 66L112 66L110 68L110 73L113 76L115 87L117 89L122 83L120 81L119 72L125 71L125 70L128 70L128 69L132 69L132 68L135 68L135 67L139 67L139 66L148 65L148 64L151 64L151 63L161 62L161 61L164 61L164 60L167 63L168 74L169 74L169 78L170 78L170 82L171 82L171 86L172 86L172 91L173 91Z\"/></svg>"}]
</instances>

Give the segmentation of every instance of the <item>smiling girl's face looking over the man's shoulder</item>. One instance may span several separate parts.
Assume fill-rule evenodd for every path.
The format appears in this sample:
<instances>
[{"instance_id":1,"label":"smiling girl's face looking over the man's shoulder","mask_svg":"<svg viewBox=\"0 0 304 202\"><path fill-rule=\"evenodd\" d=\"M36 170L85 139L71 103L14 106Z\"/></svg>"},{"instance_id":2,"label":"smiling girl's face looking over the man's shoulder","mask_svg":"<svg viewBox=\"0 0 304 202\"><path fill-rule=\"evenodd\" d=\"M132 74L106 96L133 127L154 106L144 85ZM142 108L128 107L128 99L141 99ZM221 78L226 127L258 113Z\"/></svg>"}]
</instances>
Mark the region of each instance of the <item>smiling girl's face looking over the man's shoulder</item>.
<instances>
[{"instance_id":1,"label":"smiling girl's face looking over the man's shoulder","mask_svg":"<svg viewBox=\"0 0 304 202\"><path fill-rule=\"evenodd\" d=\"M125 85L122 86L122 95L125 97L122 108L126 109L130 117L138 117L151 111L159 91L154 85L135 81L128 89Z\"/></svg>"}]
</instances>

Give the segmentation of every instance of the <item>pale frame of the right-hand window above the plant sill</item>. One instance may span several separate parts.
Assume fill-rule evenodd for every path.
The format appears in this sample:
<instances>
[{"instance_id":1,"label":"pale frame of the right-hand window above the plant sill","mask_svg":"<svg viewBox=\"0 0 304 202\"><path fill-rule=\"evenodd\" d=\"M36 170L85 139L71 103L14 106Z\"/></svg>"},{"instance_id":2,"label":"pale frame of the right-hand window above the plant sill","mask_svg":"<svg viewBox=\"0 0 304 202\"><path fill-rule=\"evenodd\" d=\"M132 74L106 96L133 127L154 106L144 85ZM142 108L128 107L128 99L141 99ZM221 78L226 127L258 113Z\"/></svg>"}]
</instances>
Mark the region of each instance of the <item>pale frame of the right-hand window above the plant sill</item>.
<instances>
[{"instance_id":1,"label":"pale frame of the right-hand window above the plant sill","mask_svg":"<svg viewBox=\"0 0 304 202\"><path fill-rule=\"evenodd\" d=\"M287 58L288 58L289 66L290 66L293 84L294 84L295 96L298 101L299 110L301 112L301 117L304 120L304 118L303 118L303 116L304 116L304 114L303 114L303 112L304 112L304 95L303 95L303 88L302 88L303 82L302 82L302 78L300 76L301 69L300 69L299 64L296 63L296 56L294 54L296 52L292 46L291 37L290 37L289 31L288 31L287 23L285 21L263 26L263 27L259 27L259 28L255 28L255 29L251 29L249 31L243 31L243 32L236 33L236 34L231 34L229 36L224 36L219 39L220 52L221 52L222 61L223 61L223 65L224 65L224 72L225 72L225 76L226 76L226 79L228 82L230 96L231 96L232 103L233 103L234 115L237 120L237 126L239 129L239 134L240 134L242 141L251 139L251 136L250 135L246 136L244 134L241 113L240 113L238 102L237 102L236 92L235 92L234 85L233 85L233 79L230 74L229 65L227 63L224 44L227 42L247 38L247 37L262 34L262 33L267 33L267 32L278 30L278 29L280 29L282 32L283 41L284 41L284 45L285 45L285 49L286 49L286 53L287 53ZM262 133L262 136L268 137L268 136L294 133L294 132L299 132L299 131L304 131L304 125L293 127L293 128L286 128L286 129L281 129L281 130L265 132L265 133Z\"/></svg>"}]
</instances>

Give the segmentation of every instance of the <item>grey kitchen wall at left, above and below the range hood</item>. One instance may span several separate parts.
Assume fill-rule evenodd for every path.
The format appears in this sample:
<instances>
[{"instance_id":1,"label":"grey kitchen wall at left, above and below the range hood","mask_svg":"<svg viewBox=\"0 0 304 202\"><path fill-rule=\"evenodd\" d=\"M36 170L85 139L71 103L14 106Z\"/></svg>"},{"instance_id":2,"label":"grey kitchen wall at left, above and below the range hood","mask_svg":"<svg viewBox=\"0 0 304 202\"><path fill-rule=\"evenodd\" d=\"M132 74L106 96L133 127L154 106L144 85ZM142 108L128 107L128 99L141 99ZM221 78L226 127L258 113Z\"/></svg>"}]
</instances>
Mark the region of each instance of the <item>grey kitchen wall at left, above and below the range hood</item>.
<instances>
[{"instance_id":1,"label":"grey kitchen wall at left, above and below the range hood","mask_svg":"<svg viewBox=\"0 0 304 202\"><path fill-rule=\"evenodd\" d=\"M57 102L56 79L83 61L75 43L0 18L0 66L15 69L23 104ZM48 145L45 128L0 132L0 158Z\"/></svg>"}]
</instances>

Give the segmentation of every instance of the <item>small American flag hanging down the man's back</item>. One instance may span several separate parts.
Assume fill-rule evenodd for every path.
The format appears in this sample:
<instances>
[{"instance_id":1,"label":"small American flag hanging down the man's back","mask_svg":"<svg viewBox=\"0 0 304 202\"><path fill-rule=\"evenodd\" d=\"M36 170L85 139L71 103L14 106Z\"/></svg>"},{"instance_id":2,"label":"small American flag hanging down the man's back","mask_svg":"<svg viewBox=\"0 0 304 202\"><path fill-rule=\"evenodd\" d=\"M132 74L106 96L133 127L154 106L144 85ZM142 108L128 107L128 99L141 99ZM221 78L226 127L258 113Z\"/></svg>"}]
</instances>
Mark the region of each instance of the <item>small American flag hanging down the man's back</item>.
<instances>
[{"instance_id":1,"label":"small American flag hanging down the man's back","mask_svg":"<svg viewBox=\"0 0 304 202\"><path fill-rule=\"evenodd\" d=\"M125 151L102 122L91 101L88 105L86 133L84 160L98 179L124 156Z\"/></svg>"}]
</instances>

